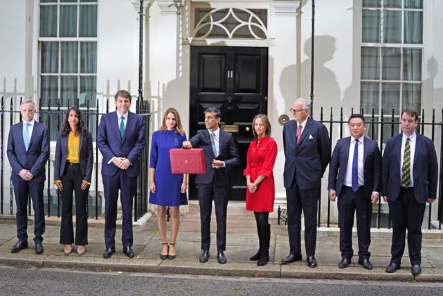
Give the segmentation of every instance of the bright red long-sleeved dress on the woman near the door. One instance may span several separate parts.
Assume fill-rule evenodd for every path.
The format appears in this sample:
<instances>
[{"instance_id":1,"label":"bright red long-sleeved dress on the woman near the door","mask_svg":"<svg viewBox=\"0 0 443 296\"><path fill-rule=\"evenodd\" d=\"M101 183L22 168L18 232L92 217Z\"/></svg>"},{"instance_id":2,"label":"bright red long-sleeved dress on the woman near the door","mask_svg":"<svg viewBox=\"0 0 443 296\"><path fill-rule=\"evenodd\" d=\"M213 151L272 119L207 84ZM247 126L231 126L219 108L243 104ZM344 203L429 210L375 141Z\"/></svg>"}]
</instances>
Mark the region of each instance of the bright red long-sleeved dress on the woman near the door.
<instances>
[{"instance_id":1,"label":"bright red long-sleeved dress on the woman near the door","mask_svg":"<svg viewBox=\"0 0 443 296\"><path fill-rule=\"evenodd\" d=\"M276 157L277 143L274 139L265 136L260 139L260 144L257 144L257 140L249 144L243 175L250 175L251 182L254 182L259 175L266 177L258 184L255 193L251 193L246 189L247 211L274 210L275 184L272 169Z\"/></svg>"}]
</instances>

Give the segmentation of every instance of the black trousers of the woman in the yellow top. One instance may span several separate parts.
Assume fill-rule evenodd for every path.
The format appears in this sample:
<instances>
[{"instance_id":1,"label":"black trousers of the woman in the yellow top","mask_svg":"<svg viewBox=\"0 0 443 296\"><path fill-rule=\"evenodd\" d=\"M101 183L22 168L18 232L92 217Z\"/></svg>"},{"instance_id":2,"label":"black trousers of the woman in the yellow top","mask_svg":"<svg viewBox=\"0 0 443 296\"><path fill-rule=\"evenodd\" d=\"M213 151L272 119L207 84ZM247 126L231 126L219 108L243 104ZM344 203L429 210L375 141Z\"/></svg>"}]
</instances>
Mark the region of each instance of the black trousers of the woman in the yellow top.
<instances>
[{"instance_id":1,"label":"black trousers of the woman in the yellow top","mask_svg":"<svg viewBox=\"0 0 443 296\"><path fill-rule=\"evenodd\" d=\"M75 245L88 244L87 201L89 189L82 190L82 171L80 164L66 162L60 191L62 199L62 225L60 227L60 243L74 243L72 222L73 192L75 193Z\"/></svg>"}]
</instances>

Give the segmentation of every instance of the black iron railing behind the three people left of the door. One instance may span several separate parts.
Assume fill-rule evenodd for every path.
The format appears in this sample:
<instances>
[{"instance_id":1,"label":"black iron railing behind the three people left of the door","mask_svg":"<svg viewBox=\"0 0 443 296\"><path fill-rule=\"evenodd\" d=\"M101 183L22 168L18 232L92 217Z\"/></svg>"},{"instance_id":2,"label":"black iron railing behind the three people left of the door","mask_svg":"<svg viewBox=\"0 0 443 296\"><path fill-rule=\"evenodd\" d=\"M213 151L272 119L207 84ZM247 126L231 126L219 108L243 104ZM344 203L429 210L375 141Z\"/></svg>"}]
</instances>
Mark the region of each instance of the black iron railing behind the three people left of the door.
<instances>
[{"instance_id":1,"label":"black iron railing behind the three people left of the door","mask_svg":"<svg viewBox=\"0 0 443 296\"><path fill-rule=\"evenodd\" d=\"M104 102L106 100L106 102ZM112 100L112 99L111 99ZM8 101L8 103L6 103ZM19 106L22 98L3 98L1 97L0 103L0 128L1 128L1 138L0 138L0 150L1 150L1 172L0 172L0 214L14 214L14 193L12 190L12 182L10 182L11 170L5 171L8 167L8 159L3 157L6 155L6 143L8 141L9 127L19 121L21 121L21 116L19 112ZM36 102L37 103L37 102ZM113 102L111 102L113 103ZM136 113L141 115L145 120L145 149L141 153L141 172L137 181L137 192L134 201L134 219L138 220L143 215L147 213L147 195L148 195L148 151L149 151L149 131L150 131L150 105L148 101L136 100L133 103L136 104ZM5 105L9 105L6 109ZM53 100L48 98L46 101L40 100L37 105L37 116L38 121L46 124L49 129L51 139L55 139L55 134L62 126L64 117L69 107L62 107L60 99ZM105 105L105 112L100 113L98 111L98 106ZM86 100L85 103L80 105L80 100L68 101L68 106L77 106L82 110L84 119L91 133L93 134L93 142L96 143L98 130L98 123L100 122L100 116L109 112L109 100ZM93 107L91 107L93 106ZM8 124L5 126L5 121ZM95 145L94 145L95 146ZM55 141L51 141L51 151L55 148ZM53 153L51 153L52 155ZM101 176L99 176L100 166L99 166L100 154L97 148L94 151L94 174L92 178L93 186L89 189L89 200L88 200L88 213L89 217L98 217L102 214L102 203L104 203L104 197L102 191L99 190L99 184L102 184ZM44 189L44 202L46 203L45 214L47 216L57 216L60 217L60 194L53 186L53 173L51 171L51 162L53 156L50 157L48 163L46 164L46 184ZM9 180L8 189L4 186L4 180ZM4 204L9 205L9 211L4 209ZM91 211L93 209L93 211ZM73 208L75 211L75 207ZM30 198L28 199L28 213L31 214Z\"/></svg>"}]
</instances>

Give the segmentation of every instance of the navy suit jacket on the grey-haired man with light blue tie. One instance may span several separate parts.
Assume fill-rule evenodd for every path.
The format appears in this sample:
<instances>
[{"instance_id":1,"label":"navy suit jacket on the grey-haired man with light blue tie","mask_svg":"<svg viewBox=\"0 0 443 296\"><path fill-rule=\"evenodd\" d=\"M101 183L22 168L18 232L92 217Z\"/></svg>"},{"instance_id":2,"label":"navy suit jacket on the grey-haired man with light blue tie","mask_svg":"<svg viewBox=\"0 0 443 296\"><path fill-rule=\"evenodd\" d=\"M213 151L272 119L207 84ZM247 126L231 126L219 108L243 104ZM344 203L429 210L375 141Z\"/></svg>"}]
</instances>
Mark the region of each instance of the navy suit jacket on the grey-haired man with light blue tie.
<instances>
[{"instance_id":1,"label":"navy suit jacket on the grey-haired man with light blue tie","mask_svg":"<svg viewBox=\"0 0 443 296\"><path fill-rule=\"evenodd\" d=\"M25 168L34 175L33 181L46 180L44 168L49 158L49 133L46 125L34 122L28 151L23 141L23 122L12 125L6 154L12 167L12 178L20 177L20 171Z\"/></svg>"}]
</instances>

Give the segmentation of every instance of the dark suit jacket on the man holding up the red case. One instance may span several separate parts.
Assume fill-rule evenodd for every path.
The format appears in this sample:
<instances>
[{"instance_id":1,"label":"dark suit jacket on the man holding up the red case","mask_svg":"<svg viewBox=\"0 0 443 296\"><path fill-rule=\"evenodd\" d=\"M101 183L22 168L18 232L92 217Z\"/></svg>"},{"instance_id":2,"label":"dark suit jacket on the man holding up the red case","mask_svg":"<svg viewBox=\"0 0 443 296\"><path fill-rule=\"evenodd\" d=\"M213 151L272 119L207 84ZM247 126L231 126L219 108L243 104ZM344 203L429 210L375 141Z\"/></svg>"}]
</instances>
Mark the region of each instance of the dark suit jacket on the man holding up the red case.
<instances>
[{"instance_id":1,"label":"dark suit jacket on the man holding up the red case","mask_svg":"<svg viewBox=\"0 0 443 296\"><path fill-rule=\"evenodd\" d=\"M237 144L234 137L229 132L220 130L219 134L219 156L216 158L213 152L213 146L210 141L208 130L198 130L197 134L189 140L193 148L203 148L205 156L206 172L197 175L195 182L197 184L215 183L221 186L228 186L228 171L239 163ZM224 168L213 168L213 159L223 160Z\"/></svg>"}]
</instances>

